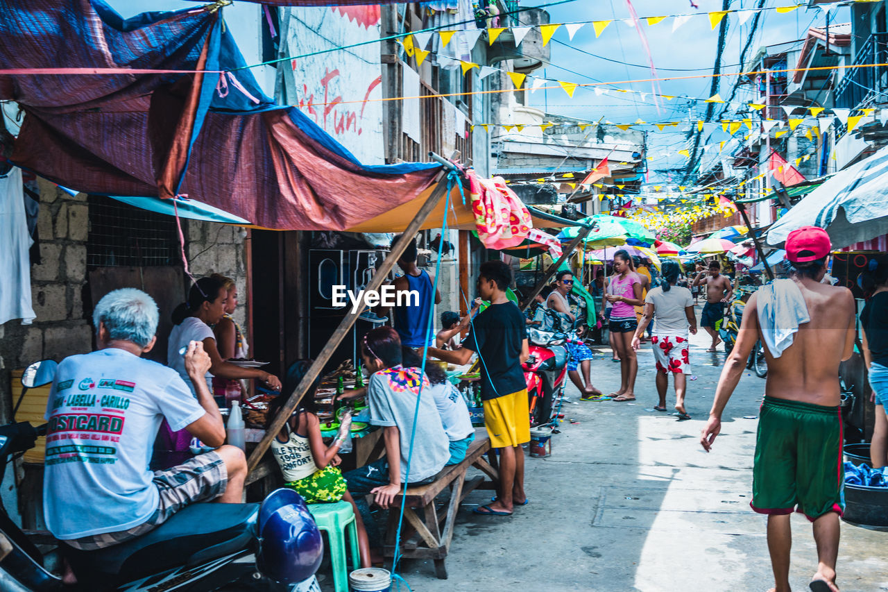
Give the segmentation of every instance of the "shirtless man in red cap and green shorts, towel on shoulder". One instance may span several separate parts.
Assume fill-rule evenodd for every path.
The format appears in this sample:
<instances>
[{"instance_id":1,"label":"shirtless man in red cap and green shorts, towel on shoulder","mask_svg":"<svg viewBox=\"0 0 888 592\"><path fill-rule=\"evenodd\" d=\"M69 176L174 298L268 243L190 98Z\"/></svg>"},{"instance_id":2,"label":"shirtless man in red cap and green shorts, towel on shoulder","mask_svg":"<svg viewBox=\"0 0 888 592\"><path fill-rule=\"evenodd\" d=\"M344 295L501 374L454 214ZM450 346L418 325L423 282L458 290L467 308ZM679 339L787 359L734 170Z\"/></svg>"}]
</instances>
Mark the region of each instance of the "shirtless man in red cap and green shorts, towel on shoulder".
<instances>
[{"instance_id":1,"label":"shirtless man in red cap and green shorts, towel on shoulder","mask_svg":"<svg viewBox=\"0 0 888 592\"><path fill-rule=\"evenodd\" d=\"M737 342L718 380L710 420L700 439L709 452L749 352L761 339L768 378L749 505L768 515L772 592L790 589L789 516L796 509L813 522L817 543L817 572L810 588L838 592L836 556L844 510L838 366L853 351L854 300L847 288L821 284L830 248L822 228L809 226L789 233L786 257L796 275L763 286L746 303ZM774 319L780 319L779 327Z\"/></svg>"}]
</instances>

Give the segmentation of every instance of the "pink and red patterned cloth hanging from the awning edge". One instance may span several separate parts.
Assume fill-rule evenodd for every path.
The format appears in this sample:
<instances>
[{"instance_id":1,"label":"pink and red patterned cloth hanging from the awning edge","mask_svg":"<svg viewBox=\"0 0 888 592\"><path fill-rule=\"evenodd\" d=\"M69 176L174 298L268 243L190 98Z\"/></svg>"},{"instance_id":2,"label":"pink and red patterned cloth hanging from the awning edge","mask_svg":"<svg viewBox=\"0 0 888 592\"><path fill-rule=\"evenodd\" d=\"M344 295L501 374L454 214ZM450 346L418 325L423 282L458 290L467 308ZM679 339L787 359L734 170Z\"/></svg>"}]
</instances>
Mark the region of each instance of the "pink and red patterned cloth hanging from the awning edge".
<instances>
[{"instance_id":1,"label":"pink and red patterned cloth hanging from the awning edge","mask_svg":"<svg viewBox=\"0 0 888 592\"><path fill-rule=\"evenodd\" d=\"M466 171L472 196L472 212L478 237L488 249L505 249L521 244L534 228L530 212L502 177L481 179Z\"/></svg>"}]
</instances>

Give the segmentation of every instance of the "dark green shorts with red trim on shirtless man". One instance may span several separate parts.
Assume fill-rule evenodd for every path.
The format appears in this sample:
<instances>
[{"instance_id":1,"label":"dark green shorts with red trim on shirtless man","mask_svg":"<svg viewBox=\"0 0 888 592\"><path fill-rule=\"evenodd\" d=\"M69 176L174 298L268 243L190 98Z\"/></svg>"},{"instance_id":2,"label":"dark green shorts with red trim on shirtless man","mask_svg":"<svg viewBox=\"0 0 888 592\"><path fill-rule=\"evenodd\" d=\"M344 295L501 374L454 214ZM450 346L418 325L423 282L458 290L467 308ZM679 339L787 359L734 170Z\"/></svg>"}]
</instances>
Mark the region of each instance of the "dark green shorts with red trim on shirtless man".
<instances>
[{"instance_id":1,"label":"dark green shorts with red trim on shirtless man","mask_svg":"<svg viewBox=\"0 0 888 592\"><path fill-rule=\"evenodd\" d=\"M765 396L752 468L752 509L797 510L814 520L844 511L842 416L826 407Z\"/></svg>"}]
</instances>

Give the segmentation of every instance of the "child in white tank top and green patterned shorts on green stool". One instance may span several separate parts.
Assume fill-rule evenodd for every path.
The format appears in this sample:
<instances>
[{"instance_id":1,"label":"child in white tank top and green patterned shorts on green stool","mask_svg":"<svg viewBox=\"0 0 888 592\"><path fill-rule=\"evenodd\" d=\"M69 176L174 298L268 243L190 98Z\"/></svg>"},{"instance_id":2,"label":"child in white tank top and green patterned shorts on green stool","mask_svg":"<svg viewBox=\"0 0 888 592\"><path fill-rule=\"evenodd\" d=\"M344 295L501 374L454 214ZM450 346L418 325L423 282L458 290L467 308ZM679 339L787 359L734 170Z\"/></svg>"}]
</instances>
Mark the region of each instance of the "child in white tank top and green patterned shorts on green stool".
<instances>
[{"instance_id":1,"label":"child in white tank top and green patterned shorts on green stool","mask_svg":"<svg viewBox=\"0 0 888 592\"><path fill-rule=\"evenodd\" d=\"M287 397L297 387L305 372L311 366L310 360L300 360L290 365L283 382L281 396L278 396L268 408L268 425ZM314 406L314 391L320 378L314 381L305 396L299 402L296 412L281 428L281 432L272 440L272 453L283 473L284 485L297 492L305 499L305 503L316 504L345 500L352 504L358 529L358 547L361 549L361 567L370 567L370 548L367 531L361 520L361 513L351 494L345 487L345 479L338 465L339 446L345 441L348 430L352 428L352 416L346 414L339 427L333 443L327 446L321 439L321 420Z\"/></svg>"}]
</instances>

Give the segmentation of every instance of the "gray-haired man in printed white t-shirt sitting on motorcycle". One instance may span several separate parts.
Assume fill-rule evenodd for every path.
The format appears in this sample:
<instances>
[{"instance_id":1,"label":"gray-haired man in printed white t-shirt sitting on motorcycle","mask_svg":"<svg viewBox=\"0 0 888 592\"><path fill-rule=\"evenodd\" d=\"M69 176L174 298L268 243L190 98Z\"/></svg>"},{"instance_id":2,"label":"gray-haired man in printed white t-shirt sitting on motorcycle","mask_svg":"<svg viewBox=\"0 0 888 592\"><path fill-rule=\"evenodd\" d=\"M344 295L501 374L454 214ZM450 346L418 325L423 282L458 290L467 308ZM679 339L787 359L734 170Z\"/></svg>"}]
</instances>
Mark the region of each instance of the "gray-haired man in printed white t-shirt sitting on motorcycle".
<instances>
[{"instance_id":1,"label":"gray-haired man in printed white t-shirt sitting on motorcycle","mask_svg":"<svg viewBox=\"0 0 888 592\"><path fill-rule=\"evenodd\" d=\"M138 537L198 501L240 503L247 463L223 446L225 427L204 373L210 356L191 341L178 372L140 357L154 347L158 311L145 292L123 288L99 300L92 321L98 350L65 358L46 407L44 516L67 545L94 550ZM148 469L166 418L218 446L177 467Z\"/></svg>"}]
</instances>

